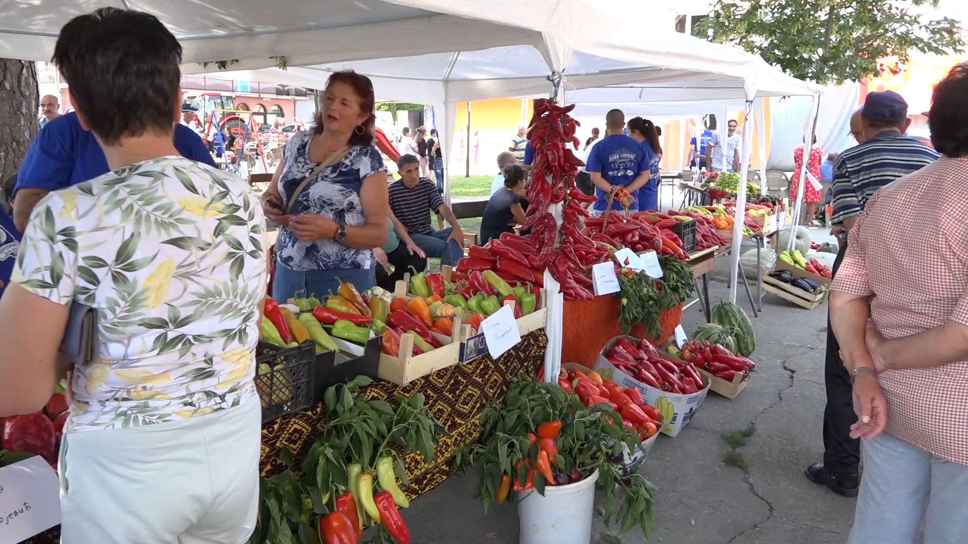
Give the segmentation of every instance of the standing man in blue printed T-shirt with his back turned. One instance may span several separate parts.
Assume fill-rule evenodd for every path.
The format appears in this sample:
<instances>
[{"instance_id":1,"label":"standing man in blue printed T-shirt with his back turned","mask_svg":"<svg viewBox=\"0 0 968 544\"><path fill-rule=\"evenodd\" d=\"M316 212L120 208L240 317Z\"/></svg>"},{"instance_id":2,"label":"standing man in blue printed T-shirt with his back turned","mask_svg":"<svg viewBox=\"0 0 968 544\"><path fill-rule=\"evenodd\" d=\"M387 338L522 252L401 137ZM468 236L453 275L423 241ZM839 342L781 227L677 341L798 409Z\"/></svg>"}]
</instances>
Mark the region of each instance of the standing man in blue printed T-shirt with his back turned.
<instances>
[{"instance_id":1,"label":"standing man in blue printed T-shirt with his back turned","mask_svg":"<svg viewBox=\"0 0 968 544\"><path fill-rule=\"evenodd\" d=\"M649 182L649 157L642 144L631 136L625 136L625 114L613 109L605 115L606 136L595 143L589 152L586 169L591 174L591 182L597 188L593 211L596 216L605 211L608 196L623 187L632 196L629 212L639 210L638 193ZM616 198L612 209L620 210L621 202Z\"/></svg>"}]
</instances>

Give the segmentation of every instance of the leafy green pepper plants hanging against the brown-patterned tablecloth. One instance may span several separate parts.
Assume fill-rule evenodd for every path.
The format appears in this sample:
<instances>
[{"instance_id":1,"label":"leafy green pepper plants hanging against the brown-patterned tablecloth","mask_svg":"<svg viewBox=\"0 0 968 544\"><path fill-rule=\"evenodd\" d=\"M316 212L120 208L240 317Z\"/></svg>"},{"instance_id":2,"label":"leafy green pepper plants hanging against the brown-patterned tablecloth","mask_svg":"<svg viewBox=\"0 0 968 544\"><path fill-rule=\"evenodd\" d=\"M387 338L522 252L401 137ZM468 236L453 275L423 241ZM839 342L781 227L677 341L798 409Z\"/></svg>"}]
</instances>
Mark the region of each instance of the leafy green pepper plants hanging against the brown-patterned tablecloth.
<instances>
[{"instance_id":1,"label":"leafy green pepper plants hanging against the brown-patterned tablecloth","mask_svg":"<svg viewBox=\"0 0 968 544\"><path fill-rule=\"evenodd\" d=\"M362 474L373 474L378 471L378 460L390 457L392 473L382 476L386 482L393 482L392 486L396 486L394 480L399 478L406 487L404 457L408 453L415 451L427 463L433 461L439 438L447 432L424 403L424 395L397 396L395 406L381 400L366 400L361 390L372 381L361 376L326 390L323 397L326 423L322 433L298 461L284 450L280 459L288 468L262 479L258 524L250 542L325 542L318 534L319 520L336 511L336 499L353 488L348 471L351 466L358 464ZM379 474L373 479L372 489L364 490L366 497L391 491L378 481ZM361 502L360 497L355 500L358 504ZM362 506L358 512L364 527L373 521ZM385 523L378 526L374 541L393 541Z\"/></svg>"}]
</instances>

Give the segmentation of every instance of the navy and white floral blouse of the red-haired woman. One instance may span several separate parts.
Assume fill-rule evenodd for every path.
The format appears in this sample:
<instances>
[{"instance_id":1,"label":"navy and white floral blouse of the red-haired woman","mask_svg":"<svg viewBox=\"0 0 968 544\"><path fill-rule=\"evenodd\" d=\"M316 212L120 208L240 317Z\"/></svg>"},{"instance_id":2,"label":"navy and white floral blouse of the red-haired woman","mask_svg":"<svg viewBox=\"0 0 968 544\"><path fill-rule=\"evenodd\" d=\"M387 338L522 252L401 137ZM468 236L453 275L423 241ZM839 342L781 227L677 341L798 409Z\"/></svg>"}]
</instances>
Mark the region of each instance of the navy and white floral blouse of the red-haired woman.
<instances>
[{"instance_id":1,"label":"navy and white floral blouse of the red-haired woman","mask_svg":"<svg viewBox=\"0 0 968 544\"><path fill-rule=\"evenodd\" d=\"M290 196L318 163L309 160L312 131L296 133L286 144L283 161L286 167L279 179L279 194L284 207ZM338 163L326 166L316 179L296 198L289 213L319 214L337 223L360 226L366 223L360 204L363 180L383 171L383 159L376 147L354 145ZM333 240L301 242L288 227L283 227L276 242L276 257L289 270L342 270L345 268L373 268L375 258L371 250L350 248Z\"/></svg>"}]
</instances>

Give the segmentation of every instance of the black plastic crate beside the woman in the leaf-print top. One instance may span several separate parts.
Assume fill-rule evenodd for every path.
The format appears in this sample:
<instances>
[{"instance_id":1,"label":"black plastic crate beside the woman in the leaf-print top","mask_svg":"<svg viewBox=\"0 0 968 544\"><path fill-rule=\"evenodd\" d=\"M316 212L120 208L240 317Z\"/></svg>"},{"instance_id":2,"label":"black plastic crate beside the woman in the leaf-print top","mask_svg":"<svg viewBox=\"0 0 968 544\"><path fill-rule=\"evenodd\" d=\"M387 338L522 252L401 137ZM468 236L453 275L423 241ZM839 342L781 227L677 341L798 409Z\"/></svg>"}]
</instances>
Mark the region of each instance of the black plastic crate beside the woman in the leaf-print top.
<instances>
[{"instance_id":1,"label":"black plastic crate beside the woman in the leaf-print top","mask_svg":"<svg viewBox=\"0 0 968 544\"><path fill-rule=\"evenodd\" d=\"M314 342L295 348L258 343L256 389L263 423L313 406L315 362Z\"/></svg>"}]
</instances>

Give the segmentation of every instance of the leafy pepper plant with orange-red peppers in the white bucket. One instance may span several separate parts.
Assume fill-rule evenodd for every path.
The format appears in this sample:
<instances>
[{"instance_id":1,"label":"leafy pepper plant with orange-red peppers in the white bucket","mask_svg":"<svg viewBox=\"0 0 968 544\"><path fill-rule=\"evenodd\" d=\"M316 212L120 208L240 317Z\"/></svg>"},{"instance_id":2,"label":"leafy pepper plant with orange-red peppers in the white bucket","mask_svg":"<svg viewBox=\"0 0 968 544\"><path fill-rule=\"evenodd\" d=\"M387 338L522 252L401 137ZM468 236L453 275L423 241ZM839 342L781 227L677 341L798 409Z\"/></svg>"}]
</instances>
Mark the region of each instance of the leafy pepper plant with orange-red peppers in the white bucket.
<instances>
[{"instance_id":1,"label":"leafy pepper plant with orange-red peppers in the white bucket","mask_svg":"<svg viewBox=\"0 0 968 544\"><path fill-rule=\"evenodd\" d=\"M529 469L538 463L542 448L534 441L541 424L560 424L555 439L557 455L552 471L561 482L579 481L598 471L598 485L605 492L606 525L613 517L621 530L639 526L647 535L655 524L652 495L655 487L645 476L622 465L622 445L641 447L638 434L622 425L621 416L606 405L585 407L578 396L563 391L557 383L535 383L528 376L515 378L507 396L493 402L481 415L481 440L459 450L457 468L475 468L479 484L475 497L485 512L494 501L502 502L507 476L517 487L527 487ZM529 438L531 435L531 438ZM572 478L569 475L577 470ZM533 486L542 496L548 482L540 471L533 472ZM621 505L616 510L616 499ZM506 500L514 501L514 494Z\"/></svg>"}]
</instances>

